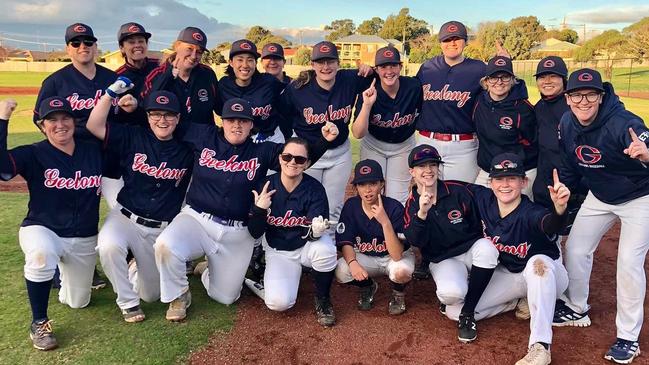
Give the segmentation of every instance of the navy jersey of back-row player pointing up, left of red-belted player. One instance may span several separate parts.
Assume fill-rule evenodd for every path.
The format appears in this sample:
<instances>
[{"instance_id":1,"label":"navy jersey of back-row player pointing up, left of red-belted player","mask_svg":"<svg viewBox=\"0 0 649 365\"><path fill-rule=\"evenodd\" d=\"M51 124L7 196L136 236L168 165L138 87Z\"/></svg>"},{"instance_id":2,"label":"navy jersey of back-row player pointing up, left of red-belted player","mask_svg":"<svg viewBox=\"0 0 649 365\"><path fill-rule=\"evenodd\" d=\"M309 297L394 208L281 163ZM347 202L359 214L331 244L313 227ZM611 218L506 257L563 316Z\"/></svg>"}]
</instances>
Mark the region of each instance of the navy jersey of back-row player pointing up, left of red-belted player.
<instances>
[{"instance_id":1,"label":"navy jersey of back-row player pointing up, left of red-belted player","mask_svg":"<svg viewBox=\"0 0 649 365\"><path fill-rule=\"evenodd\" d=\"M399 91L394 99L377 84L367 130L379 141L401 143L415 133L421 113L421 84L414 77L399 76ZM354 118L362 107L363 98L359 96Z\"/></svg>"}]
</instances>

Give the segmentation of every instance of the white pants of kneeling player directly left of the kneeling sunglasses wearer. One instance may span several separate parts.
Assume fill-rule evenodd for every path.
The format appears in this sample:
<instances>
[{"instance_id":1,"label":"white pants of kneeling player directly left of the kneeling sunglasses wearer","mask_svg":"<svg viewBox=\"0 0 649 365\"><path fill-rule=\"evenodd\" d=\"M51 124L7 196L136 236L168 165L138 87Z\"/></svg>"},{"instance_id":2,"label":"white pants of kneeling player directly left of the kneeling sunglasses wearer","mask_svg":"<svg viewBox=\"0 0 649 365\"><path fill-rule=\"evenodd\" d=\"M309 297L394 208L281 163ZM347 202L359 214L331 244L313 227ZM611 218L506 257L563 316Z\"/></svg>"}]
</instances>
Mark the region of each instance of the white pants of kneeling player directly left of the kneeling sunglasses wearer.
<instances>
[{"instance_id":1,"label":"white pants of kneeling player directly left of the kneeling sunglasses wearer","mask_svg":"<svg viewBox=\"0 0 649 365\"><path fill-rule=\"evenodd\" d=\"M254 241L246 227L222 225L185 206L153 245L160 300L169 303L186 292L185 262L207 256L209 269L201 277L207 294L219 303L234 303L241 294Z\"/></svg>"}]
</instances>

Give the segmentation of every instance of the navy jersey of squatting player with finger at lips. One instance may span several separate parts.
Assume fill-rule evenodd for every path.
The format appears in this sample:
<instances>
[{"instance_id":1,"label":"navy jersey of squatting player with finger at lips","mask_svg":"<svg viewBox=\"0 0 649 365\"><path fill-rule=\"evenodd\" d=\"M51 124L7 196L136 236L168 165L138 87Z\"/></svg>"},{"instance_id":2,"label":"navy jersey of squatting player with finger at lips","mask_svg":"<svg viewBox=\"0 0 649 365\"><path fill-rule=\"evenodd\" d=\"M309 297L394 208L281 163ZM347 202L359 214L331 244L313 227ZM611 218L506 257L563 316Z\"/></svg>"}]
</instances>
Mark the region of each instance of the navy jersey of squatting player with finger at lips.
<instances>
[{"instance_id":1,"label":"navy jersey of squatting player with finger at lips","mask_svg":"<svg viewBox=\"0 0 649 365\"><path fill-rule=\"evenodd\" d=\"M396 234L403 233L403 205L387 196L381 196L383 209ZM363 211L362 200L354 196L345 202L340 213L340 220L336 227L336 245L342 247L350 245L356 251L368 256L388 255L388 246L385 243L383 227L376 219L371 218ZM410 248L404 243L404 250Z\"/></svg>"}]
</instances>

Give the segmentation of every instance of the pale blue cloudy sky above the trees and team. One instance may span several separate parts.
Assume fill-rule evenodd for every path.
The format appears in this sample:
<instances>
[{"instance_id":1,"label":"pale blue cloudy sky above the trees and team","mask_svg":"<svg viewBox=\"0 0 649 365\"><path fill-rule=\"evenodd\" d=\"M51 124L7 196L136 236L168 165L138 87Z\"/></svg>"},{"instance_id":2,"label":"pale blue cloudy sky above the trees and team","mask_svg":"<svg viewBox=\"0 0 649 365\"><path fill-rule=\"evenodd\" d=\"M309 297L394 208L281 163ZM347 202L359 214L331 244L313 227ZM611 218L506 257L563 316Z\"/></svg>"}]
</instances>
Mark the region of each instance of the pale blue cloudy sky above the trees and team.
<instances>
[{"instance_id":1,"label":"pale blue cloudy sky above the trees and team","mask_svg":"<svg viewBox=\"0 0 649 365\"><path fill-rule=\"evenodd\" d=\"M116 34L122 23L136 21L153 33L151 49L167 47L180 29L198 26L208 36L208 47L243 38L253 25L261 25L288 40L312 44L322 40L324 25L350 18L358 26L374 16L385 19L403 7L425 20L436 32L448 20L469 27L485 21L508 21L535 15L546 28L564 21L580 34L622 29L649 16L647 0L586 1L469 1L448 3L430 0L2 0L0 42L27 49L62 48L65 27L74 22L90 25L102 50L117 49ZM452 4L452 5L451 5ZM586 7L586 4L588 6ZM90 5L94 5L90 6Z\"/></svg>"}]
</instances>

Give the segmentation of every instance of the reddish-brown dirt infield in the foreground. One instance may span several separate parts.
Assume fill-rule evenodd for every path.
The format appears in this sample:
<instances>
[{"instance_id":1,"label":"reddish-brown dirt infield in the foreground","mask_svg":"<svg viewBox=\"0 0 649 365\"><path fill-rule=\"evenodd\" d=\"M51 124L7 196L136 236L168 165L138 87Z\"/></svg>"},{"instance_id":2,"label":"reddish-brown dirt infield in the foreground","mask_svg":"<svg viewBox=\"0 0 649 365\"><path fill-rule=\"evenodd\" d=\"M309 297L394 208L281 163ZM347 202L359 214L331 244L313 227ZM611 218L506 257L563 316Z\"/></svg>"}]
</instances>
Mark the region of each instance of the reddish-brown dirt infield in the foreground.
<instances>
[{"instance_id":1,"label":"reddish-brown dirt infield in the foreground","mask_svg":"<svg viewBox=\"0 0 649 365\"><path fill-rule=\"evenodd\" d=\"M596 253L591 280L591 319L588 328L554 331L553 364L610 364L604 352L615 340L616 225ZM313 285L302 279L297 304L285 313L268 310L247 290L239 301L234 328L226 338L213 339L190 357L191 364L513 364L524 356L529 321L514 313L479 322L479 337L463 345L456 339L455 323L437 310L432 280L408 286L408 311L387 314L390 287L379 281L375 307L359 312L356 288L334 284L332 301L338 319L322 328L313 311ZM191 314L190 314L191 316ZM191 320L191 317L190 317ZM647 329L641 348L649 349ZM646 355L638 364L649 363Z\"/></svg>"}]
</instances>

